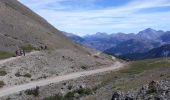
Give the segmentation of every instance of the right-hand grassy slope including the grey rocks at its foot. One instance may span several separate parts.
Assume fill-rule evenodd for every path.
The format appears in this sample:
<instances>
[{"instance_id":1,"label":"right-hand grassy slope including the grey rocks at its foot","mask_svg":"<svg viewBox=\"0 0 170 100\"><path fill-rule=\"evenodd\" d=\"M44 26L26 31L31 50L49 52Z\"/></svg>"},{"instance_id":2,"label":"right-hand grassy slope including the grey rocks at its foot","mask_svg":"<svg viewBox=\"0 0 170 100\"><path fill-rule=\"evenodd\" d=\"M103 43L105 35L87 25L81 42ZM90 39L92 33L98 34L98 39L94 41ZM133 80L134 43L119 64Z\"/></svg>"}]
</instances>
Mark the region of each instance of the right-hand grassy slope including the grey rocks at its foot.
<instances>
[{"instance_id":1,"label":"right-hand grassy slope including the grey rocks at its foot","mask_svg":"<svg viewBox=\"0 0 170 100\"><path fill-rule=\"evenodd\" d=\"M82 100L169 100L169 60L129 62L124 69L103 75L102 85Z\"/></svg>"}]
</instances>

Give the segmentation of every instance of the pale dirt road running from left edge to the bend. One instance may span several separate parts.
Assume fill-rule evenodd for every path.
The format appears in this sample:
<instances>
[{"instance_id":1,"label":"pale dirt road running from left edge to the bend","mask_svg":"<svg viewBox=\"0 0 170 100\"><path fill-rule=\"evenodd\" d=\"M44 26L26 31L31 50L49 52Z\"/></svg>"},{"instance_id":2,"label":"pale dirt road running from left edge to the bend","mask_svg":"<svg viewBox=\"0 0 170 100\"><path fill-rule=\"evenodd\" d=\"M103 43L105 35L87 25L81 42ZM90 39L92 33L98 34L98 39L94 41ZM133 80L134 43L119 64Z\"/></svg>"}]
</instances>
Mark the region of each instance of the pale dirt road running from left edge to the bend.
<instances>
[{"instance_id":1,"label":"pale dirt road running from left edge to the bend","mask_svg":"<svg viewBox=\"0 0 170 100\"><path fill-rule=\"evenodd\" d=\"M22 85L18 85L18 86L1 88L0 89L0 97L18 93L23 90L35 88L37 86L45 86L45 85L49 85L51 83L59 83L61 81L65 81L65 80L76 79L76 78L83 77L83 76L90 76L90 75L94 75L94 74L101 73L101 72L113 71L113 70L119 69L121 67L123 67L122 63L115 62L114 65L107 67L107 68L95 69L95 70L83 71L83 72L75 72L75 73L70 73L67 75L57 76L57 77L53 77L53 78L48 78L48 79L44 79L44 80L40 80L40 81L34 81L31 83L22 84Z\"/></svg>"}]
</instances>

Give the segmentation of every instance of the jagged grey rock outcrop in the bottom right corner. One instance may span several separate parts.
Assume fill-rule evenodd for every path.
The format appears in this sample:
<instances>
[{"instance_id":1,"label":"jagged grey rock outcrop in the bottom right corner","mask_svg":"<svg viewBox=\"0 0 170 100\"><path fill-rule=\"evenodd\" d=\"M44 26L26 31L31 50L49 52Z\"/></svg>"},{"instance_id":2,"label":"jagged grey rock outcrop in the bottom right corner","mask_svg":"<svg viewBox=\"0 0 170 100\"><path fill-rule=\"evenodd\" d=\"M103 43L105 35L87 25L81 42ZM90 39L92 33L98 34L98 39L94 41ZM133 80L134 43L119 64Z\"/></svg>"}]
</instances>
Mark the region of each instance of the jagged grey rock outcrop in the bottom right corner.
<instances>
[{"instance_id":1,"label":"jagged grey rock outcrop in the bottom right corner","mask_svg":"<svg viewBox=\"0 0 170 100\"><path fill-rule=\"evenodd\" d=\"M170 100L170 81L152 81L137 91L114 92L112 100Z\"/></svg>"}]
</instances>

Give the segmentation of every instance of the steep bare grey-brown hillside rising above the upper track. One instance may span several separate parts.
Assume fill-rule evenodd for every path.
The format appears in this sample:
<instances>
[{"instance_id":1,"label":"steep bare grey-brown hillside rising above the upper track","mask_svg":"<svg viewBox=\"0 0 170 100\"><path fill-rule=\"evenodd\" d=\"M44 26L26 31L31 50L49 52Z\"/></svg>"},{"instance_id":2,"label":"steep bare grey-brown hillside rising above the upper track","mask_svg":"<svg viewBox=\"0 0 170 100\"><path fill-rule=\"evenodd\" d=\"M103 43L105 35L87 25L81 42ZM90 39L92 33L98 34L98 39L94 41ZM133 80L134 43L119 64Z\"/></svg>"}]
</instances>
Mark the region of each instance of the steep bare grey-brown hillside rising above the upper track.
<instances>
[{"instance_id":1,"label":"steep bare grey-brown hillside rising above the upper track","mask_svg":"<svg viewBox=\"0 0 170 100\"><path fill-rule=\"evenodd\" d=\"M17 0L0 1L0 51L14 52L25 45L74 48L73 42Z\"/></svg>"}]
</instances>

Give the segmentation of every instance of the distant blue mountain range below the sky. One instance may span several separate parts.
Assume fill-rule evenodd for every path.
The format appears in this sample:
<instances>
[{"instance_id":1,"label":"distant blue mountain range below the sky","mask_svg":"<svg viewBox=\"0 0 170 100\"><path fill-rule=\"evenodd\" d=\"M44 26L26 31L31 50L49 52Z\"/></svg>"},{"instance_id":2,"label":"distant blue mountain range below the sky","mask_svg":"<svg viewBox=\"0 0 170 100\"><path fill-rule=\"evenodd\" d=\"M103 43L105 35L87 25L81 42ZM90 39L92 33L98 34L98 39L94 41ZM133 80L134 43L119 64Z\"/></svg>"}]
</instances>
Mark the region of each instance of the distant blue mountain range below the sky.
<instances>
[{"instance_id":1,"label":"distant blue mountain range below the sky","mask_svg":"<svg viewBox=\"0 0 170 100\"><path fill-rule=\"evenodd\" d=\"M79 36L72 34L71 37ZM147 28L136 34L107 34L97 32L94 35L86 35L83 37L72 39L88 47L100 50L104 53L114 56L124 56L125 58L127 58L130 55L146 53L154 48L159 48L165 44L169 44L170 31L154 30L152 28Z\"/></svg>"}]
</instances>

